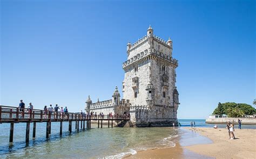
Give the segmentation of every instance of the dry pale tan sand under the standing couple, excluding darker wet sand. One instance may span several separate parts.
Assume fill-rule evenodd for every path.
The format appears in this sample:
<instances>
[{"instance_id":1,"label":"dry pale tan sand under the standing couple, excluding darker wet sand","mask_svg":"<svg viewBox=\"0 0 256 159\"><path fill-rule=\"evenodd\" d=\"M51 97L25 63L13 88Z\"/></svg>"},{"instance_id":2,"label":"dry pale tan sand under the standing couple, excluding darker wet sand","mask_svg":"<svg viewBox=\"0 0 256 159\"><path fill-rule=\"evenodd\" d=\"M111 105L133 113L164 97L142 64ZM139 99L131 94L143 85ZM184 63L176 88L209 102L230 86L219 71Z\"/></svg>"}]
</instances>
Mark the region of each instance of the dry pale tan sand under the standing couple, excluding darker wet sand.
<instances>
[{"instance_id":1,"label":"dry pale tan sand under the standing couple, excluding darker wet sand","mask_svg":"<svg viewBox=\"0 0 256 159\"><path fill-rule=\"evenodd\" d=\"M235 140L228 139L224 128L187 128L210 138L212 144L197 144L185 148L214 158L256 158L256 129L235 129Z\"/></svg>"}]
</instances>

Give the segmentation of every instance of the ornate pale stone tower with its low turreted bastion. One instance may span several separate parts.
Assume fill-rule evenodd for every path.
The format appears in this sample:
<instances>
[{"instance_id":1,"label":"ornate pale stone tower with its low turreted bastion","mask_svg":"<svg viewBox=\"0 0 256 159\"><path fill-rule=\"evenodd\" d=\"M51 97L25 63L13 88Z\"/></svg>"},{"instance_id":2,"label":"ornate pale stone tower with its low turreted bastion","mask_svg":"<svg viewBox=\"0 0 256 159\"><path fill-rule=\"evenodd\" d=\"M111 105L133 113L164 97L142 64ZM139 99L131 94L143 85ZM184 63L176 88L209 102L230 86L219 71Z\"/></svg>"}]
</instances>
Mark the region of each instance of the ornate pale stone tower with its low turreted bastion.
<instances>
[{"instance_id":1,"label":"ornate pale stone tower with its low turreted bastion","mask_svg":"<svg viewBox=\"0 0 256 159\"><path fill-rule=\"evenodd\" d=\"M85 111L130 113L129 126L151 127L177 125L179 93L176 88L178 60L172 57L172 40L164 41L153 28L134 44L127 44L127 61L123 63L123 98L118 88L112 99L92 103L86 100Z\"/></svg>"}]
</instances>

